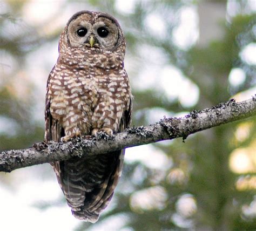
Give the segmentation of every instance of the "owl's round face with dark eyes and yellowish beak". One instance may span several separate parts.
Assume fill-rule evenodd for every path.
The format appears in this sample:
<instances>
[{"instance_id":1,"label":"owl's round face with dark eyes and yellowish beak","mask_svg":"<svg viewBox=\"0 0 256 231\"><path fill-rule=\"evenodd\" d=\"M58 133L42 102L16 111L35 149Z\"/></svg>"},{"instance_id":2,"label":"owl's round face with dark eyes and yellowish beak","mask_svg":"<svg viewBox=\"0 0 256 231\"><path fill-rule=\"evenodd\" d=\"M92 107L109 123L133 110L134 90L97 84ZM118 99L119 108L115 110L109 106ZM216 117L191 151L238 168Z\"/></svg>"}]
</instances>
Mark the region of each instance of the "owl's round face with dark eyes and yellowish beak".
<instances>
[{"instance_id":1,"label":"owl's round face with dark eyes and yellowish beak","mask_svg":"<svg viewBox=\"0 0 256 231\"><path fill-rule=\"evenodd\" d=\"M68 22L67 38L71 47L113 50L123 39L116 19L106 13L81 11Z\"/></svg>"}]
</instances>

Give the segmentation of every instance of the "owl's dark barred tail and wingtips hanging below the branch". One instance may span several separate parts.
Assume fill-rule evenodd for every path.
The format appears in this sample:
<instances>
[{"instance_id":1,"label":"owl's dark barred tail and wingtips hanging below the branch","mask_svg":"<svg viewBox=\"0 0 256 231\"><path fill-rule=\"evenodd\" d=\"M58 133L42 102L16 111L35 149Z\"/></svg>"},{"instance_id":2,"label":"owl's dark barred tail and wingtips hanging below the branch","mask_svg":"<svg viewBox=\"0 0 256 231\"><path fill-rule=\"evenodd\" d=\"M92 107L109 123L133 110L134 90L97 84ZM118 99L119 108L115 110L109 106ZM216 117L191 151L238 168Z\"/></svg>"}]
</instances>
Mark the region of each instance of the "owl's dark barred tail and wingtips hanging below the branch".
<instances>
[{"instance_id":1,"label":"owl's dark barred tail and wingtips hanging below the branch","mask_svg":"<svg viewBox=\"0 0 256 231\"><path fill-rule=\"evenodd\" d=\"M53 168L72 214L95 223L122 173L124 150L55 162Z\"/></svg>"}]
</instances>

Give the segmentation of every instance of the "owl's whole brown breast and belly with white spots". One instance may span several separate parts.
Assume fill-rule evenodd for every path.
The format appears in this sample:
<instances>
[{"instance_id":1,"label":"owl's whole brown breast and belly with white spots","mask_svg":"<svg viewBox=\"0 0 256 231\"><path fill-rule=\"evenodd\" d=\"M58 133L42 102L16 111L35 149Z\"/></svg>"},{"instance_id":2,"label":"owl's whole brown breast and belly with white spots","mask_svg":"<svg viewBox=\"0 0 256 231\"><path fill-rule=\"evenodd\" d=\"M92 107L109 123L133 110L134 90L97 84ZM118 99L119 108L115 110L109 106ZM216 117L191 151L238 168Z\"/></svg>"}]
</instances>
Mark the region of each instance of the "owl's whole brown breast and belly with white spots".
<instances>
[{"instance_id":1,"label":"owl's whole brown breast and belly with white spots","mask_svg":"<svg viewBox=\"0 0 256 231\"><path fill-rule=\"evenodd\" d=\"M50 112L68 136L91 134L95 127L117 131L130 97L124 69L112 67L106 73L91 61L83 62L79 68L75 63L72 68L70 64L69 68L65 63L56 64L51 73Z\"/></svg>"}]
</instances>

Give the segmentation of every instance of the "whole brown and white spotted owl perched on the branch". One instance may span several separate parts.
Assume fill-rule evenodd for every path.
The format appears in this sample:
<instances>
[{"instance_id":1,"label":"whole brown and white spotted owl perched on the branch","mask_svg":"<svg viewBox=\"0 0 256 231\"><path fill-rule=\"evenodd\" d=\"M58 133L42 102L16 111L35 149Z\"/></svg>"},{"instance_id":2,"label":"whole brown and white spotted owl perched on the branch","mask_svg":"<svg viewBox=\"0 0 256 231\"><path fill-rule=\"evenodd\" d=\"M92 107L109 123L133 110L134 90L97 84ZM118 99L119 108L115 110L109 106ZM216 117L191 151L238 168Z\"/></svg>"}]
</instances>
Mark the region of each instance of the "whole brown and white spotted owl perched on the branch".
<instances>
[{"instance_id":1,"label":"whole brown and white spotted owl perched on the branch","mask_svg":"<svg viewBox=\"0 0 256 231\"><path fill-rule=\"evenodd\" d=\"M132 94L117 20L102 12L77 12L62 31L58 50L47 81L45 141L122 132L131 122ZM75 218L98 220L113 196L123 161L120 150L51 163Z\"/></svg>"}]
</instances>

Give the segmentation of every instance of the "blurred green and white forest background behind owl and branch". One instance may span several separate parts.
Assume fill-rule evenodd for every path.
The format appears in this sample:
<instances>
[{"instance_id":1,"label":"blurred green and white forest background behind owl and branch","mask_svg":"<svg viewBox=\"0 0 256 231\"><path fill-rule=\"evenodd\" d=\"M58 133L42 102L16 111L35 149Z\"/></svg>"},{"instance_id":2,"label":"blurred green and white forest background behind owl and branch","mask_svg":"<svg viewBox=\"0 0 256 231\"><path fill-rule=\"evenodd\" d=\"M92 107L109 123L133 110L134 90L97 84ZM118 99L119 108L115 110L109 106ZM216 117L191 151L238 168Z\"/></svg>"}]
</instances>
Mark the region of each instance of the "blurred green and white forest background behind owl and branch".
<instances>
[{"instance_id":1,"label":"blurred green and white forest background behind owl and branch","mask_svg":"<svg viewBox=\"0 0 256 231\"><path fill-rule=\"evenodd\" d=\"M0 1L0 151L44 139L46 79L79 10L116 17L134 126L256 93L256 1ZM256 118L129 148L96 224L75 220L47 164L0 173L0 229L255 230Z\"/></svg>"}]
</instances>

